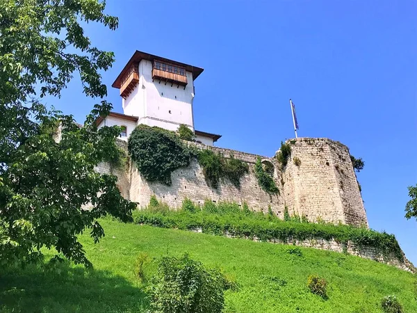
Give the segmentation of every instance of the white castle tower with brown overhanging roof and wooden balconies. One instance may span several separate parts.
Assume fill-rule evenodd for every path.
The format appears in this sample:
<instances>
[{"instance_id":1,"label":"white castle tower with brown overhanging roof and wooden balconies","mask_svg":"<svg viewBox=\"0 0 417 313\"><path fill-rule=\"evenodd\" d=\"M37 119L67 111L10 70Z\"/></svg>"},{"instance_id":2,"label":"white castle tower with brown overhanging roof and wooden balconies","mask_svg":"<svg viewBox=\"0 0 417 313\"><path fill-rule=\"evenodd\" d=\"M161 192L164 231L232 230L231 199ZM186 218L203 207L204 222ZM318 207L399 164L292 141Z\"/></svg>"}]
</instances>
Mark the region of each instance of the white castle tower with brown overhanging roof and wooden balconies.
<instances>
[{"instance_id":1,"label":"white castle tower with brown overhanging roof and wooden balconies","mask_svg":"<svg viewBox=\"0 0 417 313\"><path fill-rule=\"evenodd\" d=\"M176 131L179 125L195 132L196 141L213 145L221 137L194 127L194 81L203 69L193 65L136 51L112 87L120 90L123 113L112 112L97 125L122 127L127 140L139 124Z\"/></svg>"}]
</instances>

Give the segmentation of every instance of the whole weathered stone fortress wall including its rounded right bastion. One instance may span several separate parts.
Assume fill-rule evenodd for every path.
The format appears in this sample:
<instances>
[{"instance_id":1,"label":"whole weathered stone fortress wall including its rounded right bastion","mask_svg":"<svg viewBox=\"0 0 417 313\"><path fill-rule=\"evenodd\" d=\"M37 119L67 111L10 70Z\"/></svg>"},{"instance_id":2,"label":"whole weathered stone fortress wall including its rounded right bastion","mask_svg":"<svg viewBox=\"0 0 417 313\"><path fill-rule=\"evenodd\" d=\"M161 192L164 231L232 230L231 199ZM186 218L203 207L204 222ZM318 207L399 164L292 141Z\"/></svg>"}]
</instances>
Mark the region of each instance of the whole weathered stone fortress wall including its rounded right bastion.
<instances>
[{"instance_id":1,"label":"whole weathered stone fortress wall including its rounded right bastion","mask_svg":"<svg viewBox=\"0 0 417 313\"><path fill-rule=\"evenodd\" d=\"M291 145L291 158L284 170L280 170L275 158L195 143L202 149L221 152L224 157L233 154L236 159L245 161L249 172L240 179L240 188L227 181L221 182L217 189L209 187L197 161L172 172L171 186L142 179L134 163L125 168L101 164L97 170L116 175L124 198L137 202L139 207L149 204L152 195L172 208L181 207L185 198L197 204L206 199L237 202L240 206L246 202L256 211L267 212L270 206L279 218L284 218L287 207L289 214L305 215L312 222L322 219L331 223L368 226L348 148L327 138L297 138L287 143ZM119 144L127 150L125 142ZM270 195L259 186L254 174L258 157L274 167L273 178L279 194ZM297 165L295 159L300 161Z\"/></svg>"}]
</instances>

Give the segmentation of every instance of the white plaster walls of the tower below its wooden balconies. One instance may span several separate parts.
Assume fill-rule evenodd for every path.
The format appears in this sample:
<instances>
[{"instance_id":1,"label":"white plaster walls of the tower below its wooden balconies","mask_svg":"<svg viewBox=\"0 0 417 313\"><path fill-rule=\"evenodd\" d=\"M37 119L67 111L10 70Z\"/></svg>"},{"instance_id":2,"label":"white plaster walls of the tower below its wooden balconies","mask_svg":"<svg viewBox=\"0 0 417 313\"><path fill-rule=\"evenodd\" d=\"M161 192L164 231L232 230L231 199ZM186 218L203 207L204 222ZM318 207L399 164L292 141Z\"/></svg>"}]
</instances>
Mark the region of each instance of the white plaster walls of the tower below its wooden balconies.
<instances>
[{"instance_id":1,"label":"white plaster walls of the tower below its wooden balconies","mask_svg":"<svg viewBox=\"0 0 417 313\"><path fill-rule=\"evenodd\" d=\"M123 99L124 114L138 116L139 124L176 130L180 124L194 128L193 74L186 72L188 85L177 86L164 81L152 81L152 62L139 63L139 83Z\"/></svg>"}]
</instances>

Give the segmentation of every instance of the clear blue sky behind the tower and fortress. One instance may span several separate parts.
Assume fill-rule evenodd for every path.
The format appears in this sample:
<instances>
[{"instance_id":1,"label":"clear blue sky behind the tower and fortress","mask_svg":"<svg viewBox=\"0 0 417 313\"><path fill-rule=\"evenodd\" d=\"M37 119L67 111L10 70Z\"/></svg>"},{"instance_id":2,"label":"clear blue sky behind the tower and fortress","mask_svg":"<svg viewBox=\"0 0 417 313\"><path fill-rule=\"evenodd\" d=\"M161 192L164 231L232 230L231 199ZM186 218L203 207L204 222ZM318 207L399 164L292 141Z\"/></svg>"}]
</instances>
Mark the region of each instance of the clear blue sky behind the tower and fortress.
<instances>
[{"instance_id":1,"label":"clear blue sky behind the tower and fortress","mask_svg":"<svg viewBox=\"0 0 417 313\"><path fill-rule=\"evenodd\" d=\"M272 156L292 138L328 137L362 157L370 227L397 236L417 264L417 222L404 218L417 183L416 1L120 1L107 13L117 31L89 24L115 52L111 83L138 49L204 67L195 81L195 125L222 134L221 147ZM57 109L83 122L95 103L74 80Z\"/></svg>"}]
</instances>

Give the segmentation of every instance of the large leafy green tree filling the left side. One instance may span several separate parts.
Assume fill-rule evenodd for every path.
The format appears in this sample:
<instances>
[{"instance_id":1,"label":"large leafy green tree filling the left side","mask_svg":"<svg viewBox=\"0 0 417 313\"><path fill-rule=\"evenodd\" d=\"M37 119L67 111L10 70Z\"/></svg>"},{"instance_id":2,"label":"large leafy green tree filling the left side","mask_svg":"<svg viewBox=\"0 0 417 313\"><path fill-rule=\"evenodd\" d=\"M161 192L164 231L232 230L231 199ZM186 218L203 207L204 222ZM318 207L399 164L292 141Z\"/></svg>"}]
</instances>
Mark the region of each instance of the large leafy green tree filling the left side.
<instances>
[{"instance_id":1,"label":"large leafy green tree filling the left side","mask_svg":"<svg viewBox=\"0 0 417 313\"><path fill-rule=\"evenodd\" d=\"M39 259L42 247L91 266L76 235L88 227L99 241L104 230L97 218L106 214L131 220L134 204L122 198L116 178L95 172L120 153L119 127L95 126L112 107L103 99L100 71L114 55L93 47L80 23L116 29L117 17L104 14L105 6L99 0L0 1L1 266ZM101 98L83 127L42 104L47 95L60 97L73 74L86 96Z\"/></svg>"}]
</instances>

